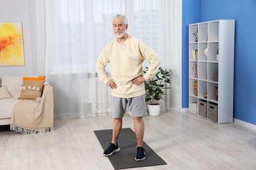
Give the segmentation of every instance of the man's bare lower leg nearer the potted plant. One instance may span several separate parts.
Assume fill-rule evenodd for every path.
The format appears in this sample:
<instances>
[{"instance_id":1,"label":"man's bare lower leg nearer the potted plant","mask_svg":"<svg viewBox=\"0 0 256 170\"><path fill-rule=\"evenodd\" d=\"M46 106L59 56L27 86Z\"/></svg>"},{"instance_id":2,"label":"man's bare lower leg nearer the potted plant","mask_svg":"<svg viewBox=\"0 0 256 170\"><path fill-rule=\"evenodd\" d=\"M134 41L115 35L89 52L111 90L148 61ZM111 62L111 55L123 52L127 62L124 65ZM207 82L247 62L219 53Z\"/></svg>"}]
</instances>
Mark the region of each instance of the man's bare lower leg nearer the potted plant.
<instances>
[{"instance_id":1,"label":"man's bare lower leg nearer the potted plant","mask_svg":"<svg viewBox=\"0 0 256 170\"><path fill-rule=\"evenodd\" d=\"M137 147L143 147L144 121L142 117L133 117L133 124L137 139Z\"/></svg>"}]
</instances>

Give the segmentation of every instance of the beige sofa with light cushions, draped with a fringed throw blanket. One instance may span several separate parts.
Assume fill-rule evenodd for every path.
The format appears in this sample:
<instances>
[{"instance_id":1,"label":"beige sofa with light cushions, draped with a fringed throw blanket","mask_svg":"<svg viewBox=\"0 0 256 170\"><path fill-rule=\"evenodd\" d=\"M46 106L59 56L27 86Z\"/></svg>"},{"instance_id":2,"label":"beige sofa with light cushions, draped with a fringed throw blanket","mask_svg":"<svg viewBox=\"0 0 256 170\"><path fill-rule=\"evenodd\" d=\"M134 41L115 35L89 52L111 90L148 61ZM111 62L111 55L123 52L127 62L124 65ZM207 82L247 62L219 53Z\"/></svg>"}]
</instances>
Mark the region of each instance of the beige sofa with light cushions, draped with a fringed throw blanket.
<instances>
[{"instance_id":1,"label":"beige sofa with light cushions, draped with a fringed throw blanket","mask_svg":"<svg viewBox=\"0 0 256 170\"><path fill-rule=\"evenodd\" d=\"M53 130L53 88L44 83L41 97L20 99L23 76L0 78L0 126L11 125L19 133Z\"/></svg>"}]
</instances>

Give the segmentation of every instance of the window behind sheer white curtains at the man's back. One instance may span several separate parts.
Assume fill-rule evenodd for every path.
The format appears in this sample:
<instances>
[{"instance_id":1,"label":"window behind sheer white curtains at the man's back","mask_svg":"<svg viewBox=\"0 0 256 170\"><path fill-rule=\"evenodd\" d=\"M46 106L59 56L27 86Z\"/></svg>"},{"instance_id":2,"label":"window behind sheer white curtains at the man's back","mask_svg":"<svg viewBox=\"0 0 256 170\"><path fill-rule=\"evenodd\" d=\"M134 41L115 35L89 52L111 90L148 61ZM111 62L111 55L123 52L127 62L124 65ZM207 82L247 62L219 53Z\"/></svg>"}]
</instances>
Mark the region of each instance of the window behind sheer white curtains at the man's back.
<instances>
[{"instance_id":1,"label":"window behind sheer white curtains at the man's back","mask_svg":"<svg viewBox=\"0 0 256 170\"><path fill-rule=\"evenodd\" d=\"M114 38L112 17L125 14L127 33L159 50L160 0L54 1L51 73L95 73L102 48Z\"/></svg>"}]
</instances>

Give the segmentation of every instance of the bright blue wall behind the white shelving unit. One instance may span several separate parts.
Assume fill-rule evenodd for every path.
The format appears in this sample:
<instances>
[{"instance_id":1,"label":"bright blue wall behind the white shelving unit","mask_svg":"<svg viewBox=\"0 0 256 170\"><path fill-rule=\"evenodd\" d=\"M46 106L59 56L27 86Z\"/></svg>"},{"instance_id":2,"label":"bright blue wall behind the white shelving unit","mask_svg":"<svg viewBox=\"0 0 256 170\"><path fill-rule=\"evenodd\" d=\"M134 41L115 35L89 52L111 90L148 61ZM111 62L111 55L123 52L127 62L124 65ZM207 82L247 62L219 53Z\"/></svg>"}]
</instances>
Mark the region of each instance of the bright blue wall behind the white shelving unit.
<instances>
[{"instance_id":1,"label":"bright blue wall behind the white shelving unit","mask_svg":"<svg viewBox=\"0 0 256 170\"><path fill-rule=\"evenodd\" d=\"M188 107L188 24L234 19L234 118L256 125L256 1L192 2L182 0L182 107ZM192 14L195 11L198 15Z\"/></svg>"}]
</instances>

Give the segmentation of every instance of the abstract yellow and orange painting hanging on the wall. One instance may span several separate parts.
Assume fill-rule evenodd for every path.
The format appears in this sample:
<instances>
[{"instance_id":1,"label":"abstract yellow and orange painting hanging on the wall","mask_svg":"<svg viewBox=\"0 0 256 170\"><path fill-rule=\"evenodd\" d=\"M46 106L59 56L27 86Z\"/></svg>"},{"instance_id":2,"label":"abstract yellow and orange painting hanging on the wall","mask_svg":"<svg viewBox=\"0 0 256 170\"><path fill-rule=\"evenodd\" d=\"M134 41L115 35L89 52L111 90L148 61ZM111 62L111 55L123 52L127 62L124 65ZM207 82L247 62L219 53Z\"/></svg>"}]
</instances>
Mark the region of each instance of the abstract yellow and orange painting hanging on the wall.
<instances>
[{"instance_id":1,"label":"abstract yellow and orange painting hanging on the wall","mask_svg":"<svg viewBox=\"0 0 256 170\"><path fill-rule=\"evenodd\" d=\"M21 22L0 22L0 66L25 65Z\"/></svg>"}]
</instances>

